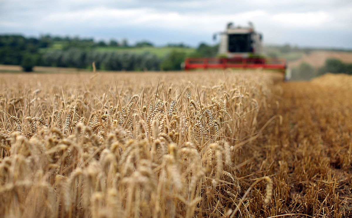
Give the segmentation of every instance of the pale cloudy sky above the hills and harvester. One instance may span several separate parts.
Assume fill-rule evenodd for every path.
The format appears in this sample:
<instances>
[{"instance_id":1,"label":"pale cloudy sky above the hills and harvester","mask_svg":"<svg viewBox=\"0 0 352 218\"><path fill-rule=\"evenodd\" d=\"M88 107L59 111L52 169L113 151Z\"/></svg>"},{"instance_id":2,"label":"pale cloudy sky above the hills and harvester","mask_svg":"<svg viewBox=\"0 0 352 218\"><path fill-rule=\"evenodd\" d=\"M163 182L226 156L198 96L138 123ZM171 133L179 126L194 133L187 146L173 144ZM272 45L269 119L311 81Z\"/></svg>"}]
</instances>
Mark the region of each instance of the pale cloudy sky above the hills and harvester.
<instances>
[{"instance_id":1,"label":"pale cloudy sky above the hills and harvester","mask_svg":"<svg viewBox=\"0 0 352 218\"><path fill-rule=\"evenodd\" d=\"M352 49L351 0L0 0L0 34L196 46L229 21L252 21L266 44Z\"/></svg>"}]
</instances>

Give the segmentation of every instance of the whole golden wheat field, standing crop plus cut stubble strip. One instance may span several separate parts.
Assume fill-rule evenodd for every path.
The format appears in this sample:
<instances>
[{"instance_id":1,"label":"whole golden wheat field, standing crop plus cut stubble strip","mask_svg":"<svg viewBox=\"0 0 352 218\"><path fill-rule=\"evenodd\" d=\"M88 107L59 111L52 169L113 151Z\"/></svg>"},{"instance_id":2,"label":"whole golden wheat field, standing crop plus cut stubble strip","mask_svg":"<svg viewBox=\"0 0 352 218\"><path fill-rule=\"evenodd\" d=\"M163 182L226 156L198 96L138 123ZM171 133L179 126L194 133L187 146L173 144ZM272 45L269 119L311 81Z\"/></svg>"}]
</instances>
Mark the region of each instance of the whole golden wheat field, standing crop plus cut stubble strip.
<instances>
[{"instance_id":1,"label":"whole golden wheat field, standing crop plus cut stubble strip","mask_svg":"<svg viewBox=\"0 0 352 218\"><path fill-rule=\"evenodd\" d=\"M1 74L1 217L351 217L352 78L277 79Z\"/></svg>"}]
</instances>

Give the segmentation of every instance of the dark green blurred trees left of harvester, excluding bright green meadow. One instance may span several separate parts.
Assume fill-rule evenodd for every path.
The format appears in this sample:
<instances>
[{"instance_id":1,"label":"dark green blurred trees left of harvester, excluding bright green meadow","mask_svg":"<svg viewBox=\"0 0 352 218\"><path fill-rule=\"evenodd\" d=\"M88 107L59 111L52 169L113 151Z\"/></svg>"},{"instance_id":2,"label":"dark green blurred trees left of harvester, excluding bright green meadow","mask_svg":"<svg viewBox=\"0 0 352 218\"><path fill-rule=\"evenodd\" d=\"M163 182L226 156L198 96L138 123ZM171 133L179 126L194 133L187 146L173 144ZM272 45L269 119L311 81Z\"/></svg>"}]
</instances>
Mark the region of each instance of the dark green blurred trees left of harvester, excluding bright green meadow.
<instances>
[{"instance_id":1,"label":"dark green blurred trees left of harvester, excluding bright green meadow","mask_svg":"<svg viewBox=\"0 0 352 218\"><path fill-rule=\"evenodd\" d=\"M53 49L55 45L60 48ZM101 70L180 70L186 53L177 50L163 58L151 53L134 54L130 52L105 51L98 52L97 47L121 46L137 47L154 46L147 41L137 42L134 46L126 39L117 42L111 40L94 42L93 39L78 37L51 37L26 38L21 35L0 36L0 64L21 65L24 71L32 71L33 66L55 66L90 68L95 62L96 68ZM184 44L168 44L170 48L187 48ZM217 46L201 43L196 51L189 56L214 57Z\"/></svg>"}]
</instances>

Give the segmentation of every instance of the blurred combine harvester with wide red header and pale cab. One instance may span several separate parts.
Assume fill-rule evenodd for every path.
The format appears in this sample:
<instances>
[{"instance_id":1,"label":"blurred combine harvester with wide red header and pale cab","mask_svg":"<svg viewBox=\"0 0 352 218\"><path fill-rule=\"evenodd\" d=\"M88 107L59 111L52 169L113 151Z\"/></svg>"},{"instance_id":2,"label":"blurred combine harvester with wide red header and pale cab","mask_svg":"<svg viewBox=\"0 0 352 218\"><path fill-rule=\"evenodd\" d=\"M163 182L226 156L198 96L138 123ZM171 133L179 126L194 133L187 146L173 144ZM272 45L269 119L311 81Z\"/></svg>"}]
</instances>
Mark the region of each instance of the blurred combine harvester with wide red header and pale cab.
<instances>
[{"instance_id":1,"label":"blurred combine harvester with wide red header and pale cab","mask_svg":"<svg viewBox=\"0 0 352 218\"><path fill-rule=\"evenodd\" d=\"M218 57L186 58L184 69L270 69L285 74L289 79L286 61L281 58L262 56L262 35L254 31L252 23L249 27L235 27L227 24L225 32L219 33L220 44ZM216 39L216 34L214 34Z\"/></svg>"}]
</instances>

